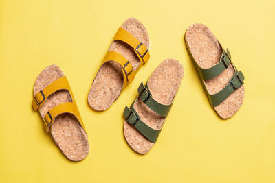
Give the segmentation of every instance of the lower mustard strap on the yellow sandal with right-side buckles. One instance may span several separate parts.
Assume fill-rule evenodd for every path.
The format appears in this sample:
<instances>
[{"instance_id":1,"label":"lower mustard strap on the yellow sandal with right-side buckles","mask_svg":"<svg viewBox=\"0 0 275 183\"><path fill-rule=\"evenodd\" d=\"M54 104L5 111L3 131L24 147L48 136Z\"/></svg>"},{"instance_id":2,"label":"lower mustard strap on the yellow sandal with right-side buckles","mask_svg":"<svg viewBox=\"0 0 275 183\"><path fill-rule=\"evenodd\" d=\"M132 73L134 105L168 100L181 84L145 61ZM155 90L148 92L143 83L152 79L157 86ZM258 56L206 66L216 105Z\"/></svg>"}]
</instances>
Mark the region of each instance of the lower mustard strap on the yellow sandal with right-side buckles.
<instances>
[{"instance_id":1,"label":"lower mustard strap on the yellow sandal with right-side buckles","mask_svg":"<svg viewBox=\"0 0 275 183\"><path fill-rule=\"evenodd\" d=\"M135 71L133 70L133 66L129 60L124 58L124 56L122 56L120 53L108 51L103 60L103 63L111 60L120 64L123 71L122 73L124 76L124 83L125 81L128 81L129 83L133 82L133 79L135 78Z\"/></svg>"}]
</instances>

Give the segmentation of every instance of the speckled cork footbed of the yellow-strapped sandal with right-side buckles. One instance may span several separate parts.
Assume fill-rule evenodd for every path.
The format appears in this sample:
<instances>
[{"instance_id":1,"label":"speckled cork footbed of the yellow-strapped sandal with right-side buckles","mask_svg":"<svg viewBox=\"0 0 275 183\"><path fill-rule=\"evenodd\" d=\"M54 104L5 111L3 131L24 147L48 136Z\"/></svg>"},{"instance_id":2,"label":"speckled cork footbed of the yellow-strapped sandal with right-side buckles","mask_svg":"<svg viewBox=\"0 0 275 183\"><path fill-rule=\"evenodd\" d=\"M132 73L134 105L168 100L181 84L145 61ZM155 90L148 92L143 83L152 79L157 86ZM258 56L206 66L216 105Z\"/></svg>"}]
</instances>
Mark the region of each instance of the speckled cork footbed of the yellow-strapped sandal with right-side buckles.
<instances>
[{"instance_id":1,"label":"speckled cork footbed of the yellow-strapped sandal with right-side buckles","mask_svg":"<svg viewBox=\"0 0 275 183\"><path fill-rule=\"evenodd\" d=\"M131 33L135 38L140 40L149 49L148 33L137 19L129 18L122 24L122 29ZM140 64L133 48L121 41L112 42L109 51L115 51L127 58L136 70ZM123 88L123 73L120 64L114 61L106 62L100 67L91 90L88 95L88 103L94 110L106 110L111 104L118 99Z\"/></svg>"}]
</instances>

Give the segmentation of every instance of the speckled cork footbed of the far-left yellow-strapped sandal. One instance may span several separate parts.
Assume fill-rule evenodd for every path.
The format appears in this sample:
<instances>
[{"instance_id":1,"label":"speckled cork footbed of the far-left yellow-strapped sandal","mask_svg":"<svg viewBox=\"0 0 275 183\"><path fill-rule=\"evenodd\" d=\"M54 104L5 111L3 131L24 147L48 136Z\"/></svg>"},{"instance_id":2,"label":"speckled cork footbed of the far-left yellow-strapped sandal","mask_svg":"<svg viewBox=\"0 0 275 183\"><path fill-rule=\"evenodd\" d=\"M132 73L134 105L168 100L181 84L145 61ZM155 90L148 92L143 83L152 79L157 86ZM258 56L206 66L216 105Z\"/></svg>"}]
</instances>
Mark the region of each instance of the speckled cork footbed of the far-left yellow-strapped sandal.
<instances>
[{"instance_id":1,"label":"speckled cork footbed of the far-left yellow-strapped sandal","mask_svg":"<svg viewBox=\"0 0 275 183\"><path fill-rule=\"evenodd\" d=\"M63 77L63 71L56 65L47 66L36 78L34 96L46 86ZM72 101L67 90L59 90L48 97L40 108L41 116L61 103ZM43 123L41 123L43 125ZM60 114L50 127L52 138L69 160L83 160L89 154L89 143L85 131L72 114Z\"/></svg>"}]
</instances>

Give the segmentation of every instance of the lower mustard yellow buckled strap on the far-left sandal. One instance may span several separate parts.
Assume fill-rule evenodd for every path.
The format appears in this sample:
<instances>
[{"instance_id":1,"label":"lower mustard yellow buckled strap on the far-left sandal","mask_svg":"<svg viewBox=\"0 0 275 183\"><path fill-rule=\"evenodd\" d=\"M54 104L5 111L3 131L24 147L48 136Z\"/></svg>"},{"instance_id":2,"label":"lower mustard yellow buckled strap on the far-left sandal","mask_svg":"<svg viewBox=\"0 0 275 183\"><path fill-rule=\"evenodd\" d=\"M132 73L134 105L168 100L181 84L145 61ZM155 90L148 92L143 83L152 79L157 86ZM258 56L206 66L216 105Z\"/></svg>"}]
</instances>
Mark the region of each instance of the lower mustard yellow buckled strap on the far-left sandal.
<instances>
[{"instance_id":1,"label":"lower mustard yellow buckled strap on the far-left sandal","mask_svg":"<svg viewBox=\"0 0 275 183\"><path fill-rule=\"evenodd\" d=\"M80 113L78 111L78 108L76 106L76 103L74 102L67 102L67 103L61 103L58 106L55 106L54 108L52 108L51 110L49 110L44 117L44 127L45 130L47 132L50 131L50 126L52 125L52 123L54 123L54 120L56 119L56 117L59 114L64 114L64 113L69 113L69 114L73 114L76 119L78 119L78 122L80 123L81 127L83 127L83 130L85 131L85 133L87 134L83 121L80 117Z\"/></svg>"}]
</instances>

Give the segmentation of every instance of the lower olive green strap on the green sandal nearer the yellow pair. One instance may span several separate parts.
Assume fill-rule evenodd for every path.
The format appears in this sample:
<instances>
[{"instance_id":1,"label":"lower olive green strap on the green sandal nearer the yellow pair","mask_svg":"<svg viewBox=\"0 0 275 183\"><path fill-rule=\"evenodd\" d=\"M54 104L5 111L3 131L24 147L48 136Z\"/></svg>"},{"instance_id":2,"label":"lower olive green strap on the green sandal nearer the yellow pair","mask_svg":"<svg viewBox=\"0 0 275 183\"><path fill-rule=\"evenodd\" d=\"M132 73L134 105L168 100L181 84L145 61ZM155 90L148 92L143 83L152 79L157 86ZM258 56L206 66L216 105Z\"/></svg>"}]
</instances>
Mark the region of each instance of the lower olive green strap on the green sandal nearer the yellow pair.
<instances>
[{"instance_id":1,"label":"lower olive green strap on the green sandal nearer the yellow pair","mask_svg":"<svg viewBox=\"0 0 275 183\"><path fill-rule=\"evenodd\" d=\"M135 103L135 101L133 103ZM146 125L146 123L140 119L140 116L133 108L133 103L130 108L126 106L124 109L123 115L125 120L133 127L135 127L135 129L137 129L145 138L147 138L152 143L155 143L161 130L154 130L153 128Z\"/></svg>"}]
</instances>

